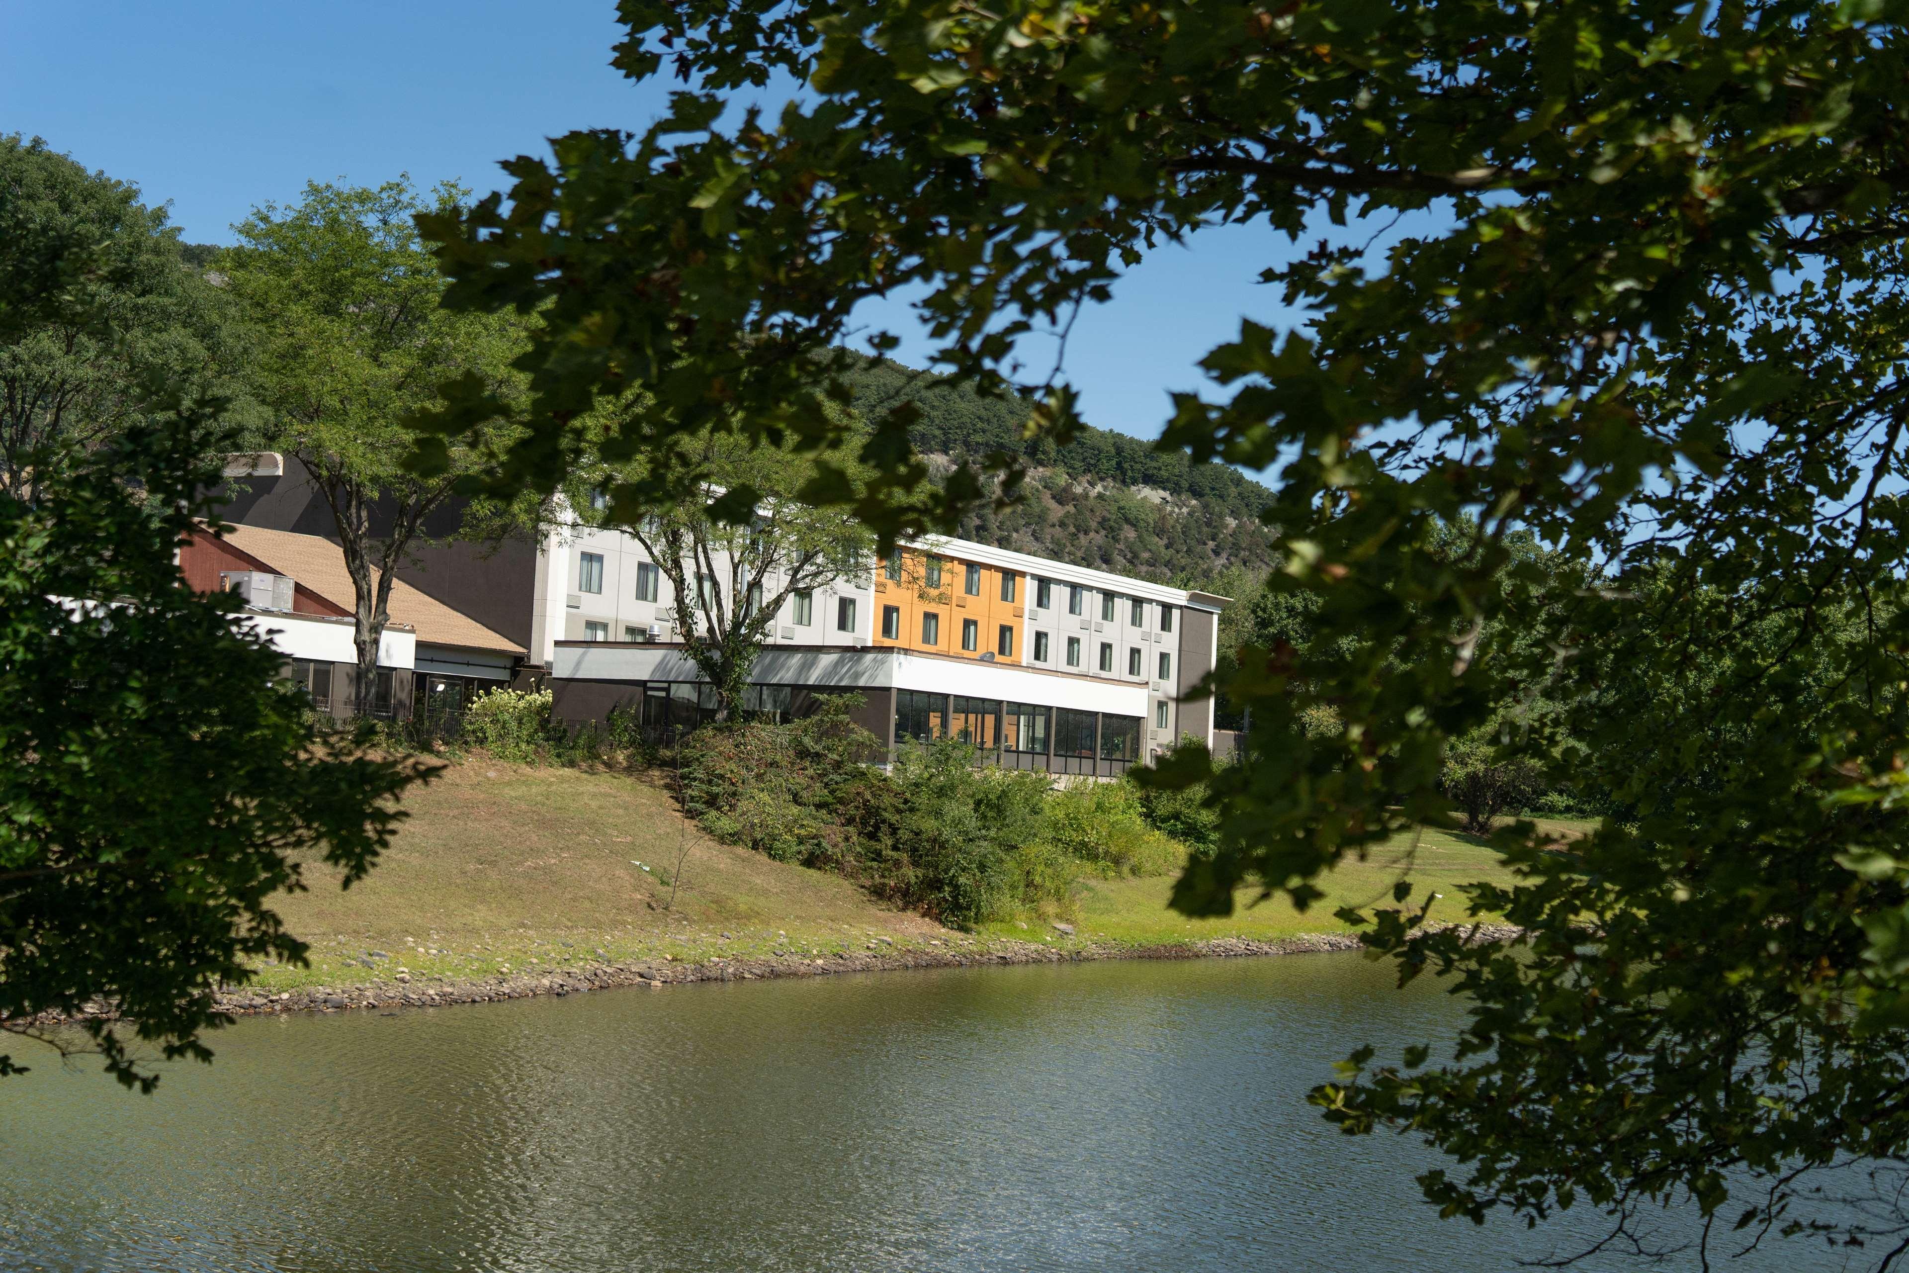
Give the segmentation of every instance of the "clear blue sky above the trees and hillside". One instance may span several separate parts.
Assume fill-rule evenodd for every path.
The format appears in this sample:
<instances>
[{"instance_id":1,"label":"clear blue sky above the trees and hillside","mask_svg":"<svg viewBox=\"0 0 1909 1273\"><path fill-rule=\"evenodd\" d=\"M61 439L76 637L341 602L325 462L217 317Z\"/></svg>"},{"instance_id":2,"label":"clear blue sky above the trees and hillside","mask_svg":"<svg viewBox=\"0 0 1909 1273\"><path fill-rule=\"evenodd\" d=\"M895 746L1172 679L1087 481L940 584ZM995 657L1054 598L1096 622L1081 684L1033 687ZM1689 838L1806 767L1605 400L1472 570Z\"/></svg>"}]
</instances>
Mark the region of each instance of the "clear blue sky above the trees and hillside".
<instances>
[{"instance_id":1,"label":"clear blue sky above the trees and hillside","mask_svg":"<svg viewBox=\"0 0 1909 1273\"><path fill-rule=\"evenodd\" d=\"M254 204L307 179L409 172L485 193L504 185L498 160L544 155L550 136L641 128L666 90L611 71L619 32L605 0L0 0L0 130L137 183L193 242L229 242ZM1197 359L1241 315L1285 317L1252 282L1285 250L1227 227L1122 279L1069 340L1088 420L1155 437L1168 389L1201 386ZM905 315L884 317L918 365Z\"/></svg>"}]
</instances>

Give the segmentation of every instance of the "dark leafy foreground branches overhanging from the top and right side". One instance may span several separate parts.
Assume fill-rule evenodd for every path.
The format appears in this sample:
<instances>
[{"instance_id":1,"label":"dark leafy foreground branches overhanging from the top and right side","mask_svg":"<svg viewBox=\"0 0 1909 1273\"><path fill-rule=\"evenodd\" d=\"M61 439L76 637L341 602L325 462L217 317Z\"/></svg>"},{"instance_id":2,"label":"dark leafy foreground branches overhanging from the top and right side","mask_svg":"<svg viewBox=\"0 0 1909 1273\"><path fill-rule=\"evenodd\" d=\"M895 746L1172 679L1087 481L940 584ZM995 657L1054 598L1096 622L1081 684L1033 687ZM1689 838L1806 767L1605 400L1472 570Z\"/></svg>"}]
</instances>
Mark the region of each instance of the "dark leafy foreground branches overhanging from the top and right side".
<instances>
[{"instance_id":1,"label":"dark leafy foreground branches overhanging from the top and right side","mask_svg":"<svg viewBox=\"0 0 1909 1273\"><path fill-rule=\"evenodd\" d=\"M632 387L653 395L632 449L718 416L832 441L815 359L897 290L956 378L1048 387L1035 428L1065 441L1065 382L1021 372L1017 340L1161 242L1266 225L1250 269L1317 321L1245 323L1164 441L1279 468L1275 588L1308 636L1243 651L1247 763L1163 775L1210 781L1224 815L1176 905L1317 899L1348 853L1447 817L1447 741L1489 729L1500 762L1625 813L1567 844L1495 834L1518 884L1470 907L1516 939L1434 929L1401 884L1373 945L1451 977L1470 1021L1436 1059L1355 1057L1329 1116L1455 1155L1422 1181L1453 1216L1588 1202L1623 1239L1695 1199L1705 1258L1731 1225L1808 1223L1814 1172L1909 1155L1898 6L622 15L619 65L687 86L672 115L561 137L512 164L508 202L428 223L452 303L544 307L502 485L561 471L573 422ZM777 76L804 92L725 113ZM905 424L863 452L884 536L981 489L899 498ZM1569 569L1520 559L1520 531ZM1909 1250L1888 1206L1823 1223Z\"/></svg>"}]
</instances>

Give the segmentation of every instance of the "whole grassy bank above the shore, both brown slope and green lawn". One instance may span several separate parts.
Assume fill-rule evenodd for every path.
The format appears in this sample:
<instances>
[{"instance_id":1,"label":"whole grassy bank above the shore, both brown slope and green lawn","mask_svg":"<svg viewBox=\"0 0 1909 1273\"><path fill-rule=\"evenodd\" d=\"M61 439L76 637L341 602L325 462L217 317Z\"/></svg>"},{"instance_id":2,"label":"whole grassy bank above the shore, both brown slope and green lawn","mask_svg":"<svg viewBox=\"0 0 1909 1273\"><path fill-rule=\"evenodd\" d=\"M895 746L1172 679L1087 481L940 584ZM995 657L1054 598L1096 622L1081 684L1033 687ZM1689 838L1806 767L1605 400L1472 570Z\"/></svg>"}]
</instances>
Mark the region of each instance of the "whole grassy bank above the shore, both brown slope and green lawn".
<instances>
[{"instance_id":1,"label":"whole grassy bank above the shore, both brown slope and green lawn","mask_svg":"<svg viewBox=\"0 0 1909 1273\"><path fill-rule=\"evenodd\" d=\"M311 943L313 966L267 968L262 983L370 981L399 966L416 977L475 979L664 954L687 962L777 949L829 954L882 937L907 949L1052 935L1040 920L954 933L878 907L838 876L710 840L676 811L664 777L481 758L451 765L407 802L410 821L365 882L342 891L319 868L311 891L279 901L290 929ZM1185 920L1166 910L1172 878L1157 876L1084 880L1067 918L1077 943L1100 945L1344 931L1334 907L1382 897L1407 851L1413 878L1430 887L1497 874L1489 851L1428 832L1416 845L1342 866L1327 880L1329 901L1306 914L1285 901L1250 907L1243 891L1235 916ZM1460 908L1447 903L1445 918L1462 918Z\"/></svg>"}]
</instances>

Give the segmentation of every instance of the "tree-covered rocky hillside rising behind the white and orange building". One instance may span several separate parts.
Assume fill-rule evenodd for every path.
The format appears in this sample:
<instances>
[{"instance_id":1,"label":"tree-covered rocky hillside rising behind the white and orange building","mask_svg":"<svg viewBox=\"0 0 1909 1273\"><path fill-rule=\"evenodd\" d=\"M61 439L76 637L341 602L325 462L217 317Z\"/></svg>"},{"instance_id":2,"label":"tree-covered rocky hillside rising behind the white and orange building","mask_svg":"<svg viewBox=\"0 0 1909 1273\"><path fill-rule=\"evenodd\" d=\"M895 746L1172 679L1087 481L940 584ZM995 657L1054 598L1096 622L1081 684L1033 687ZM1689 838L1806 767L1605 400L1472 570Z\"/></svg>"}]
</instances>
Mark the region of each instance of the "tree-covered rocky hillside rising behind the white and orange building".
<instances>
[{"instance_id":1,"label":"tree-covered rocky hillside rising behind the white and orange building","mask_svg":"<svg viewBox=\"0 0 1909 1273\"><path fill-rule=\"evenodd\" d=\"M1006 511L972 513L960 529L966 538L1182 584L1206 584L1227 567L1258 573L1271 561L1273 540L1258 521L1269 492L1226 464L1193 464L1107 429L1086 429L1067 447L1029 443L1023 403L983 399L886 359L869 359L850 380L865 414L916 403L914 445L928 456L1027 454L1027 496Z\"/></svg>"}]
</instances>

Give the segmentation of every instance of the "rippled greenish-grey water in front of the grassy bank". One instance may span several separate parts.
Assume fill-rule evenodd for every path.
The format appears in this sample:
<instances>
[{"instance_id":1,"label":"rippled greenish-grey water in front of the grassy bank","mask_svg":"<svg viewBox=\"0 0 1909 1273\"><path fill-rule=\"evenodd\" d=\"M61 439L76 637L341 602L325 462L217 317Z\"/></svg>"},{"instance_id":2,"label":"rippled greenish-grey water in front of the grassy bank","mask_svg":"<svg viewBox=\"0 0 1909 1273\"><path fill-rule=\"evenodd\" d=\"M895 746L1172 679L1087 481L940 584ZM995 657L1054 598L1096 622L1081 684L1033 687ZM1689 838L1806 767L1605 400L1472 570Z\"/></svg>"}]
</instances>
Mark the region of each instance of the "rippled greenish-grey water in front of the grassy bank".
<instances>
[{"instance_id":1,"label":"rippled greenish-grey water in front of the grassy bank","mask_svg":"<svg viewBox=\"0 0 1909 1273\"><path fill-rule=\"evenodd\" d=\"M1386 1273L1586 1242L1583 1212L1439 1221L1424 1147L1304 1103L1455 1017L1310 954L241 1021L151 1097L86 1061L0 1080L0 1267Z\"/></svg>"}]
</instances>

